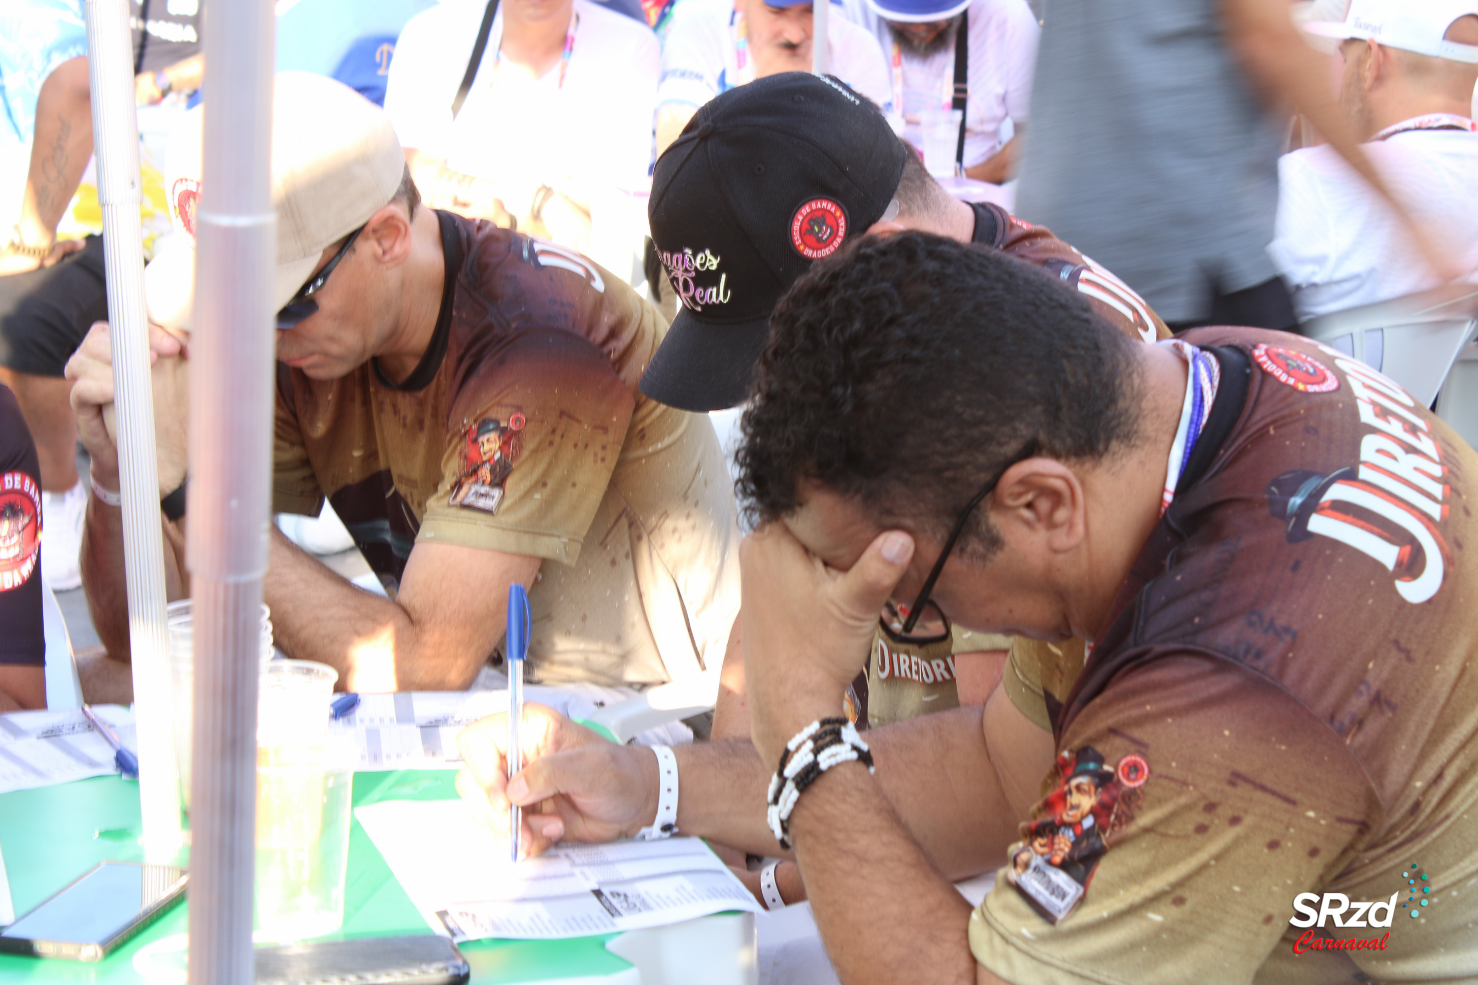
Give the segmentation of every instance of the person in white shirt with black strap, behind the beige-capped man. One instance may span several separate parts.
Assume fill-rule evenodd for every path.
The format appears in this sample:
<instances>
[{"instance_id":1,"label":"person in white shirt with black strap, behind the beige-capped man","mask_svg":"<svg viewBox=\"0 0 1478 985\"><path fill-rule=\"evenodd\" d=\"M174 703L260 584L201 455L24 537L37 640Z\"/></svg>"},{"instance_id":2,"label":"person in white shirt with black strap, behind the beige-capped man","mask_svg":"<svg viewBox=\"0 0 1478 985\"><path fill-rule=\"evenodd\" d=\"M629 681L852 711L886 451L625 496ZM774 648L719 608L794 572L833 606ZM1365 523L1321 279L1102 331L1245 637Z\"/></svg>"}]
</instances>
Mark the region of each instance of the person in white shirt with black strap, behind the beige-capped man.
<instances>
[{"instance_id":1,"label":"person in white shirt with black strap, behind the beige-capped man","mask_svg":"<svg viewBox=\"0 0 1478 985\"><path fill-rule=\"evenodd\" d=\"M446 0L405 25L384 111L423 198L587 250L591 204L641 191L661 52L590 0L501 0L457 112L486 4Z\"/></svg>"}]
</instances>

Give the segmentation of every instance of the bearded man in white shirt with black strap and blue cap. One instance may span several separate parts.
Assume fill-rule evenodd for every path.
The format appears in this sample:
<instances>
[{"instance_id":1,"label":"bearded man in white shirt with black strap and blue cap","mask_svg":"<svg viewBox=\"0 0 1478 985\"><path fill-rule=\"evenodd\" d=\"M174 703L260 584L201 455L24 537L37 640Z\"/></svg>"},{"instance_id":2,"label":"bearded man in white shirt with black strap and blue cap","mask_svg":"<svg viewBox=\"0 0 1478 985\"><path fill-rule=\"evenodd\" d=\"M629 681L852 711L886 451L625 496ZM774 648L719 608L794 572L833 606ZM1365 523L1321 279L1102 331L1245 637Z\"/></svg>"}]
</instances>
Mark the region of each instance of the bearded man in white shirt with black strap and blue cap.
<instances>
[{"instance_id":1,"label":"bearded man in white shirt with black strap and blue cap","mask_svg":"<svg viewBox=\"0 0 1478 985\"><path fill-rule=\"evenodd\" d=\"M916 148L922 114L950 106L965 24L970 95L959 164L978 182L999 185L1014 174L1042 32L1026 0L847 0L847 16L882 46L893 114L903 117L903 139Z\"/></svg>"}]
</instances>

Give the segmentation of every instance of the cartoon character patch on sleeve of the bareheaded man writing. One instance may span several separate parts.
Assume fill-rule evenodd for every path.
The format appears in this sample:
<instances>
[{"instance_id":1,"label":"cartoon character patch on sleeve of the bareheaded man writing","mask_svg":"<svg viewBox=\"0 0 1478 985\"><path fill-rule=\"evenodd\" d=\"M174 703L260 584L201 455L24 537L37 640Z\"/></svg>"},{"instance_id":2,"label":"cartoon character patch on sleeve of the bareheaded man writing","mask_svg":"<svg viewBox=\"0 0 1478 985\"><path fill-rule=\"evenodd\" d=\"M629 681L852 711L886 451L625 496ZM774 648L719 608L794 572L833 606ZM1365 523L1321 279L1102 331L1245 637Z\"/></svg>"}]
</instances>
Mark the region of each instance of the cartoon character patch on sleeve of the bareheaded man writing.
<instances>
[{"instance_id":1,"label":"cartoon character patch on sleeve of the bareheaded man writing","mask_svg":"<svg viewBox=\"0 0 1478 985\"><path fill-rule=\"evenodd\" d=\"M1007 882L1052 923L1077 907L1113 836L1134 818L1150 763L1129 753L1108 768L1101 752L1083 746L1060 755L1057 771L1057 789L1042 817L1023 826L1007 868Z\"/></svg>"}]
</instances>

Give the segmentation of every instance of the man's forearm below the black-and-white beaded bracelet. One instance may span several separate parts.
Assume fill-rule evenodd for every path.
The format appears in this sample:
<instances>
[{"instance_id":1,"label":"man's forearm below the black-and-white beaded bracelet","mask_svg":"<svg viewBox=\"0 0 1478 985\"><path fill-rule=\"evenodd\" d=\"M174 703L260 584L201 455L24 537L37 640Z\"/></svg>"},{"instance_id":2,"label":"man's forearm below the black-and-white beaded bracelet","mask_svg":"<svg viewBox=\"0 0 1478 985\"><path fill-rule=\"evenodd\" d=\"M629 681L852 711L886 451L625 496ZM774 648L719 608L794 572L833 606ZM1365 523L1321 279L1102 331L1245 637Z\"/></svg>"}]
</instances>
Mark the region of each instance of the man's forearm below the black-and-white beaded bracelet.
<instances>
[{"instance_id":1,"label":"man's forearm below the black-and-white beaded bracelet","mask_svg":"<svg viewBox=\"0 0 1478 985\"><path fill-rule=\"evenodd\" d=\"M930 865L862 763L835 766L804 792L791 837L845 985L974 985L970 904Z\"/></svg>"}]
</instances>

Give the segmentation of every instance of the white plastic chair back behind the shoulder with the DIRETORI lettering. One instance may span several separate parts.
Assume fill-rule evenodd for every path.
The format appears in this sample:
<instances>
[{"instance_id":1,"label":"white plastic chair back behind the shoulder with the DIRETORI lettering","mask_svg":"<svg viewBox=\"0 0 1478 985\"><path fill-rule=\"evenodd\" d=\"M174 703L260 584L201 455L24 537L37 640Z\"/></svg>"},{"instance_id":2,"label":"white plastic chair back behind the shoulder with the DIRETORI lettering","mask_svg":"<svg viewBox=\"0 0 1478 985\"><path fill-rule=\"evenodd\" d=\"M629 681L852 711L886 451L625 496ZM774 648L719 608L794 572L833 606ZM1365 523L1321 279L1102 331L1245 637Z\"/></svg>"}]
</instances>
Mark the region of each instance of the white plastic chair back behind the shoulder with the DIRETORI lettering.
<instances>
[{"instance_id":1,"label":"white plastic chair back behind the shoulder with the DIRETORI lettering","mask_svg":"<svg viewBox=\"0 0 1478 985\"><path fill-rule=\"evenodd\" d=\"M1364 362L1423 406L1478 332L1478 285L1450 284L1304 322L1299 332Z\"/></svg>"}]
</instances>

